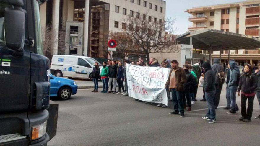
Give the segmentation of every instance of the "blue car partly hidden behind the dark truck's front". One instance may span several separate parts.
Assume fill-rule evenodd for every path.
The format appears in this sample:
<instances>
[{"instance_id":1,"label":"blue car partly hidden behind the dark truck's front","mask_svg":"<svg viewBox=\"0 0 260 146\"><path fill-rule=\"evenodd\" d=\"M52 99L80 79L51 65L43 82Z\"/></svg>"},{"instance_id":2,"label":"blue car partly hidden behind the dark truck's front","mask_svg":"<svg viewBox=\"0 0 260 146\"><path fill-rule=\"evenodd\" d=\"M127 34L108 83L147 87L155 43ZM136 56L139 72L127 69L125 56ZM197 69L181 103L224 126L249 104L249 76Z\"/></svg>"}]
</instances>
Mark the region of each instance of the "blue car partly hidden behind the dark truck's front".
<instances>
[{"instance_id":1,"label":"blue car partly hidden behind the dark truck's front","mask_svg":"<svg viewBox=\"0 0 260 146\"><path fill-rule=\"evenodd\" d=\"M56 77L50 74L50 96L58 96L61 100L68 100L77 93L78 86L75 81L67 78Z\"/></svg>"}]
</instances>

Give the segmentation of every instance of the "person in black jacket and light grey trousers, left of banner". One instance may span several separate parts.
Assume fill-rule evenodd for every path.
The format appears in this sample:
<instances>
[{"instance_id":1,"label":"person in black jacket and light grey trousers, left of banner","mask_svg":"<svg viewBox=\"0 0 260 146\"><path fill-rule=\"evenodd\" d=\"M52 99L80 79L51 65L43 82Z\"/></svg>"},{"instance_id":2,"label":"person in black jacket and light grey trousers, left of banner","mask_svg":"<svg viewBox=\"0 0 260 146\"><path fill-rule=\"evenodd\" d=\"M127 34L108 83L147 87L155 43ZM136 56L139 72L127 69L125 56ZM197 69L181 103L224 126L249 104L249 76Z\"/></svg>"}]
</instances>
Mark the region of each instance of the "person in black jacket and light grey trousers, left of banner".
<instances>
[{"instance_id":1,"label":"person in black jacket and light grey trousers, left of banner","mask_svg":"<svg viewBox=\"0 0 260 146\"><path fill-rule=\"evenodd\" d=\"M109 80L108 80L108 87L109 91L107 93L116 93L116 71L117 71L117 66L116 66L116 61L112 60L112 65L109 68ZM113 83L113 90L111 83Z\"/></svg>"}]
</instances>

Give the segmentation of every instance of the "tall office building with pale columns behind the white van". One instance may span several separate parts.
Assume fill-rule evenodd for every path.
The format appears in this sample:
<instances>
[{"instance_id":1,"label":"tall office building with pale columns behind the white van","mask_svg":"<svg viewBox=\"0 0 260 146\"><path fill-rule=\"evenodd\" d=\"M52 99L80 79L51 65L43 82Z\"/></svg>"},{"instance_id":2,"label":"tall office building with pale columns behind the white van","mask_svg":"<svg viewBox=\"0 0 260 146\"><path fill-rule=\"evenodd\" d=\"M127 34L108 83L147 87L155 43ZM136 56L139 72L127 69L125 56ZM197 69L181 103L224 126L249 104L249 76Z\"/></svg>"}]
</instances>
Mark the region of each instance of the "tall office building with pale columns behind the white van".
<instances>
[{"instance_id":1,"label":"tall office building with pale columns behind the white van","mask_svg":"<svg viewBox=\"0 0 260 146\"><path fill-rule=\"evenodd\" d=\"M163 0L48 0L40 6L40 17L43 28L51 24L57 31L56 40L63 39L58 30L66 26L65 55L107 58L109 32L123 31L124 19L160 21L165 19L165 8ZM62 45L53 45L52 55L58 54L58 49Z\"/></svg>"}]
</instances>

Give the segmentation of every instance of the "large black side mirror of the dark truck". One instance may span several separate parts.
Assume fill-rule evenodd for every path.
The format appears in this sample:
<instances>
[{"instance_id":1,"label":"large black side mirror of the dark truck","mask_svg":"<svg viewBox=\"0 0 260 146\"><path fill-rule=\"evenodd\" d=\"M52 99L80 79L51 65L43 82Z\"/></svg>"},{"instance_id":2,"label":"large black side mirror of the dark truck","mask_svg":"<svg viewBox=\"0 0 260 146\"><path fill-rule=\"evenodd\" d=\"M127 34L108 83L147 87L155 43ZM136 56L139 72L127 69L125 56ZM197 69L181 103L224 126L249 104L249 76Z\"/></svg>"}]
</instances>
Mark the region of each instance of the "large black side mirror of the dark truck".
<instances>
[{"instance_id":1,"label":"large black side mirror of the dark truck","mask_svg":"<svg viewBox=\"0 0 260 146\"><path fill-rule=\"evenodd\" d=\"M6 46L22 51L25 40L25 12L21 7L9 7L4 12Z\"/></svg>"}]
</instances>

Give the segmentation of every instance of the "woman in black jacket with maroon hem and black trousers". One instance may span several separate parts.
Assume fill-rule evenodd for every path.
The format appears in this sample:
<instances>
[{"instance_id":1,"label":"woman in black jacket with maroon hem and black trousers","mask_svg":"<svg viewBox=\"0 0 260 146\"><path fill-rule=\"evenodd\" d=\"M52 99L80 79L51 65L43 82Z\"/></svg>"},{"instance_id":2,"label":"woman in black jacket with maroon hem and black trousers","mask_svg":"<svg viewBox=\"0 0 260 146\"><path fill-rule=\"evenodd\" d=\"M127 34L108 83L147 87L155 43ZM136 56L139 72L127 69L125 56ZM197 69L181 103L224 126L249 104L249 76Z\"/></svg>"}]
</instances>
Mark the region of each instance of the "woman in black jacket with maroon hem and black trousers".
<instances>
[{"instance_id":1,"label":"woman in black jacket with maroon hem and black trousers","mask_svg":"<svg viewBox=\"0 0 260 146\"><path fill-rule=\"evenodd\" d=\"M250 64L245 65L244 73L241 75L238 85L238 96L240 96L241 91L241 114L242 117L239 118L240 121L250 122L253 106L254 106L254 98L256 95L257 88L257 78L254 73L252 73L252 66ZM246 100L248 99L248 107L246 109Z\"/></svg>"}]
</instances>

